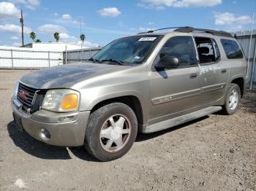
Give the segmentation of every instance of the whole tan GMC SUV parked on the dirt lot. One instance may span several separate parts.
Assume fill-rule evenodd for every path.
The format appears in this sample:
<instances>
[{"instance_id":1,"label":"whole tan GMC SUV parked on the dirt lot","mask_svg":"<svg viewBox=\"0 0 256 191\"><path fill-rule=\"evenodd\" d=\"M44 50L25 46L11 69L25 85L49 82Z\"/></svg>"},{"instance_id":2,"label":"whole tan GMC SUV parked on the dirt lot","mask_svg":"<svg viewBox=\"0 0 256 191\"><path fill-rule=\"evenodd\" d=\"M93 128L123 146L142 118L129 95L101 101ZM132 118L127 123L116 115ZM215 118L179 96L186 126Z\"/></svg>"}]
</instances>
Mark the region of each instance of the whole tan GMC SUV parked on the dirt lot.
<instances>
[{"instance_id":1,"label":"whole tan GMC SUV parked on the dirt lot","mask_svg":"<svg viewBox=\"0 0 256 191\"><path fill-rule=\"evenodd\" d=\"M21 77L12 95L20 130L48 144L84 145L107 161L127 153L138 132L235 113L247 67L236 39L192 27L161 30L116 39L85 63Z\"/></svg>"}]
</instances>

